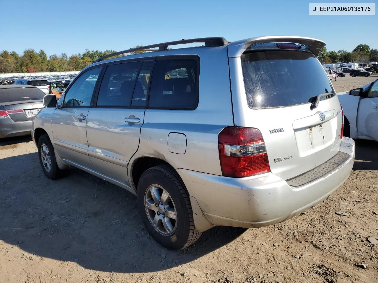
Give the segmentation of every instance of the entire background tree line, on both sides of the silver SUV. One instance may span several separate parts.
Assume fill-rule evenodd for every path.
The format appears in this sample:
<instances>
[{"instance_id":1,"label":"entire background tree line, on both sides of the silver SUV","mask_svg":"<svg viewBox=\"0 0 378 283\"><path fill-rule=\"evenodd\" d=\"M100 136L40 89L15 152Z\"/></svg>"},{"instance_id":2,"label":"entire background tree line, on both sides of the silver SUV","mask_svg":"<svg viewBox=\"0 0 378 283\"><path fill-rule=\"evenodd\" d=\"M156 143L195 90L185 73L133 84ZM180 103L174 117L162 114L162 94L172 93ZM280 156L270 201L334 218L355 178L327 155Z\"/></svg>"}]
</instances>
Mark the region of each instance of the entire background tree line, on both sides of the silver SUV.
<instances>
[{"instance_id":1,"label":"entire background tree line, on both sides of the silver SUV","mask_svg":"<svg viewBox=\"0 0 378 283\"><path fill-rule=\"evenodd\" d=\"M135 47L140 46L137 45ZM60 56L54 54L47 57L43 49L39 52L36 52L34 49L27 49L22 55L17 54L15 51L8 52L3 50L0 53L0 73L80 71L98 58L115 52L115 50L90 51L86 49L83 54L74 54L70 57L66 53L62 53ZM145 51L137 51L132 54L142 52ZM327 51L327 48L323 47L319 52L318 59L323 64L336 62L377 62L378 50L370 49L370 46L366 44L356 46L352 52L344 49L337 52L333 50Z\"/></svg>"}]
</instances>

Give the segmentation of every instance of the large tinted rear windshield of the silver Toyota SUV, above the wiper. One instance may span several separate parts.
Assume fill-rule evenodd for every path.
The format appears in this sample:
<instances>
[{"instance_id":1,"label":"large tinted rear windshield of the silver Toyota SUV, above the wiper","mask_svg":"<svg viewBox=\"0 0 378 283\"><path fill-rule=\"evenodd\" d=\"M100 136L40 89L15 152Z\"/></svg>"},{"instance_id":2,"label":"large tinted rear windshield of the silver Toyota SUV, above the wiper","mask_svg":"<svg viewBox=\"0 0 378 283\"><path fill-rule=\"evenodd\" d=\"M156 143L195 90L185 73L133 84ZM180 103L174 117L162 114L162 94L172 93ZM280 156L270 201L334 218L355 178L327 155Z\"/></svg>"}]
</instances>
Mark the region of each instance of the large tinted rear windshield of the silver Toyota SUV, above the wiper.
<instances>
[{"instance_id":1,"label":"large tinted rear windshield of the silver Toyota SUV, above the wiper","mask_svg":"<svg viewBox=\"0 0 378 283\"><path fill-rule=\"evenodd\" d=\"M241 57L245 92L250 108L307 103L333 92L318 59L307 51L254 51Z\"/></svg>"}]
</instances>

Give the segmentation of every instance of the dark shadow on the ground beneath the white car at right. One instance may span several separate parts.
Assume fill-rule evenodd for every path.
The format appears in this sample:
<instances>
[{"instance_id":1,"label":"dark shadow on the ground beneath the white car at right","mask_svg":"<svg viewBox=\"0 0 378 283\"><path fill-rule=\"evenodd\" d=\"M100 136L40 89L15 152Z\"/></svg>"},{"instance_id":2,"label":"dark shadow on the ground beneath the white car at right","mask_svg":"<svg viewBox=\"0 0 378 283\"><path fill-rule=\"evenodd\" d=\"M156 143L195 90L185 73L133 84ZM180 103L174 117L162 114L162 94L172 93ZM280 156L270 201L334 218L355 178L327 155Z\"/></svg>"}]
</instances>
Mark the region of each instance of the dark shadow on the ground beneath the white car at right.
<instances>
[{"instance_id":1,"label":"dark shadow on the ground beneath the white car at right","mask_svg":"<svg viewBox=\"0 0 378 283\"><path fill-rule=\"evenodd\" d=\"M378 170L378 142L356 140L353 170Z\"/></svg>"}]
</instances>

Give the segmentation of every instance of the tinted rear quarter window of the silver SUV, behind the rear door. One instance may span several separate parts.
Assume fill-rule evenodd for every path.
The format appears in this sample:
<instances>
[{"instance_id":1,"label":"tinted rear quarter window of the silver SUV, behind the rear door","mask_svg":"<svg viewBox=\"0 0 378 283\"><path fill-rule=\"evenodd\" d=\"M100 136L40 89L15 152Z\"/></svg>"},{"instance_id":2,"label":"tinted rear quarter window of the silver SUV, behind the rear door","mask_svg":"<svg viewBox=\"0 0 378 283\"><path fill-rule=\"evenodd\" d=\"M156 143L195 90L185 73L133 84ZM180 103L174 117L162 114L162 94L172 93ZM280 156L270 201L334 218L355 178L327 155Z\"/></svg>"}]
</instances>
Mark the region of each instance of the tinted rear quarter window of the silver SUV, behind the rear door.
<instances>
[{"instance_id":1,"label":"tinted rear quarter window of the silver SUV, behind the rear door","mask_svg":"<svg viewBox=\"0 0 378 283\"><path fill-rule=\"evenodd\" d=\"M197 108L198 77L198 57L158 58L152 74L149 108Z\"/></svg>"}]
</instances>

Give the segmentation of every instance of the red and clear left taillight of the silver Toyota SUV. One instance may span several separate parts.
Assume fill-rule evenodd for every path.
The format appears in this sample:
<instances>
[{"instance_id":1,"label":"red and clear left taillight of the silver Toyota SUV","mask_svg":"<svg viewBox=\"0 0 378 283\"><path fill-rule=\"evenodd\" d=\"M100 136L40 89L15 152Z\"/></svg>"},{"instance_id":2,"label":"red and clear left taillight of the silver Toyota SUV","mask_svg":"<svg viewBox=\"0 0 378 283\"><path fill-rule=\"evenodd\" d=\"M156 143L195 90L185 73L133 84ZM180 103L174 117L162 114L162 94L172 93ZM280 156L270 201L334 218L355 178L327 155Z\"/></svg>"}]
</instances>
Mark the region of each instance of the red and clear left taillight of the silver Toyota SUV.
<instances>
[{"instance_id":1,"label":"red and clear left taillight of the silver Toyota SUV","mask_svg":"<svg viewBox=\"0 0 378 283\"><path fill-rule=\"evenodd\" d=\"M270 172L261 132L255 128L227 127L218 135L223 176L247 177Z\"/></svg>"}]
</instances>

